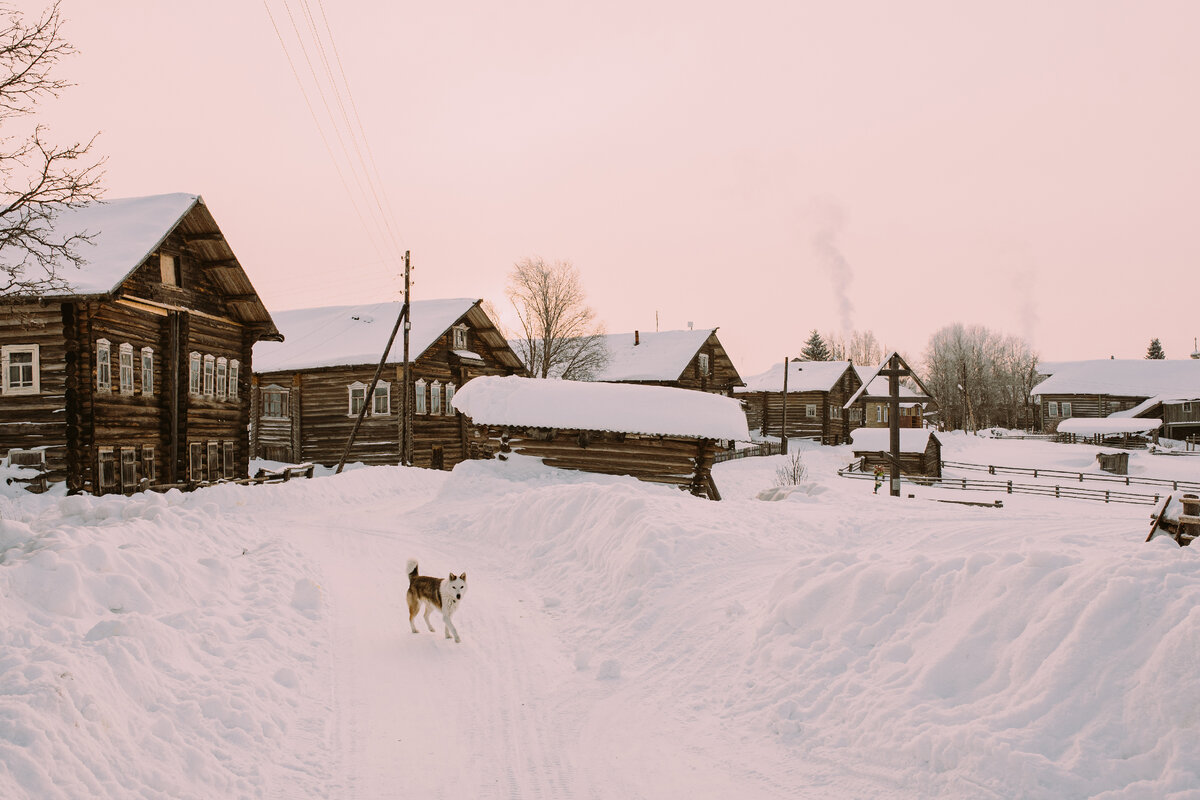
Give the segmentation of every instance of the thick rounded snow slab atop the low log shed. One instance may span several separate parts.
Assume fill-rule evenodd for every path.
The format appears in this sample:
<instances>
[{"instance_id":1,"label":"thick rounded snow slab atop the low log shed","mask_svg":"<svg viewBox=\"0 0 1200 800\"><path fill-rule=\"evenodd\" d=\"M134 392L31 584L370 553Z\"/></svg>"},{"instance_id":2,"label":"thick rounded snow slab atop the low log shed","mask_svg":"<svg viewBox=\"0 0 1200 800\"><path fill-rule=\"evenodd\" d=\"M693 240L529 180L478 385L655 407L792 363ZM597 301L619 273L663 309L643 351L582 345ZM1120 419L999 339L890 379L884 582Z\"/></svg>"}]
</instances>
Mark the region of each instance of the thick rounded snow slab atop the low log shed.
<instances>
[{"instance_id":1,"label":"thick rounded snow slab atop the low log shed","mask_svg":"<svg viewBox=\"0 0 1200 800\"><path fill-rule=\"evenodd\" d=\"M736 399L673 386L482 375L454 405L481 425L750 440Z\"/></svg>"}]
</instances>

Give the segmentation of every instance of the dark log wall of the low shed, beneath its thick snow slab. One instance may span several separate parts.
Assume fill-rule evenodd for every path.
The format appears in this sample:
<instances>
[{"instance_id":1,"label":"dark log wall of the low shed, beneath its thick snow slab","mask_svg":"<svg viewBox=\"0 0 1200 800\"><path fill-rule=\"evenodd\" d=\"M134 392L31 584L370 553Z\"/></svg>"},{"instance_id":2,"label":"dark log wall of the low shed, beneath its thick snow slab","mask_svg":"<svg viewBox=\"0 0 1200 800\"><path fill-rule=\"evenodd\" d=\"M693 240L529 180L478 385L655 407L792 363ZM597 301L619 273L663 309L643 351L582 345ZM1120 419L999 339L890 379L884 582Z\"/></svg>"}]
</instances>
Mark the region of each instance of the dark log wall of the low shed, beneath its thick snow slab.
<instances>
[{"instance_id":1,"label":"dark log wall of the low shed, beneath its thick snow slab","mask_svg":"<svg viewBox=\"0 0 1200 800\"><path fill-rule=\"evenodd\" d=\"M541 458L547 467L629 475L710 497L710 470L716 455L716 443L712 439L498 426L479 426L479 429L487 447L502 455L511 451Z\"/></svg>"}]
</instances>

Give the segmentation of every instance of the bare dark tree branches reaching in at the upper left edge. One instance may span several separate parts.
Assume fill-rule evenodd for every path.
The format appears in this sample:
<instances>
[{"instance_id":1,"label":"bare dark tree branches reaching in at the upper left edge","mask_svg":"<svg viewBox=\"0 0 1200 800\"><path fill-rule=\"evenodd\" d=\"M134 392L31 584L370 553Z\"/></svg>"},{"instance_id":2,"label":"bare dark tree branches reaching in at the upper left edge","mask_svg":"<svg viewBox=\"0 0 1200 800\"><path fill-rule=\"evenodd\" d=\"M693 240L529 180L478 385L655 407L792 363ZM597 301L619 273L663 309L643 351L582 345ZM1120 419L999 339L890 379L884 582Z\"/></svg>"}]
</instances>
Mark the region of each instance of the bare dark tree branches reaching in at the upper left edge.
<instances>
[{"instance_id":1,"label":"bare dark tree branches reaching in at the upper left edge","mask_svg":"<svg viewBox=\"0 0 1200 800\"><path fill-rule=\"evenodd\" d=\"M13 127L34 114L37 103L70 86L52 73L74 53L62 38L62 16L54 2L36 20L0 6L0 300L12 302L67 285L62 270L78 266L78 246L86 231L54 230L55 217L100 198L101 161L91 158L95 136L84 143L55 145L34 124Z\"/></svg>"}]
</instances>

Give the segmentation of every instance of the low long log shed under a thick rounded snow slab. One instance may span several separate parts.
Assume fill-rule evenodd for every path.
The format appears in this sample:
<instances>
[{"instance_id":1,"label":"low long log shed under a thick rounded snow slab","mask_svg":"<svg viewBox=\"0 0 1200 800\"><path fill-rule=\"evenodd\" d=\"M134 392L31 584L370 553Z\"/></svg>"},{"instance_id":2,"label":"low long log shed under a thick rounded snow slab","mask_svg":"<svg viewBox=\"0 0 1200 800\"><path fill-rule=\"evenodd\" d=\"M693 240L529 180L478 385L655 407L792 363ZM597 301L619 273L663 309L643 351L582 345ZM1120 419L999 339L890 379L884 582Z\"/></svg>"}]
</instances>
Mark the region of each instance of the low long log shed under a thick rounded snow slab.
<instances>
[{"instance_id":1,"label":"low long log shed under a thick rounded snow slab","mask_svg":"<svg viewBox=\"0 0 1200 800\"><path fill-rule=\"evenodd\" d=\"M480 378L455 405L481 455L678 486L720 500L712 467L719 440L749 441L738 403L673 386Z\"/></svg>"}]
</instances>

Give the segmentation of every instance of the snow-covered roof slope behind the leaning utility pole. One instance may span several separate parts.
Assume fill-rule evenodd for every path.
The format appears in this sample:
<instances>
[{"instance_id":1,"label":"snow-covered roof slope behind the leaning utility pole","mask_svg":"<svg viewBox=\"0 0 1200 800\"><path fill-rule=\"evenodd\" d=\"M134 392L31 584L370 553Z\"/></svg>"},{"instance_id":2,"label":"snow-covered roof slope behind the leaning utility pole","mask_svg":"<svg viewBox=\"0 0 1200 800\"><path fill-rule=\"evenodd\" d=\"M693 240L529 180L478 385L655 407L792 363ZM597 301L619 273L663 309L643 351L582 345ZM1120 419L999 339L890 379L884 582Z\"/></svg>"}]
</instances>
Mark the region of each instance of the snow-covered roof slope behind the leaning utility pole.
<instances>
[{"instance_id":1,"label":"snow-covered roof slope behind the leaning utility pole","mask_svg":"<svg viewBox=\"0 0 1200 800\"><path fill-rule=\"evenodd\" d=\"M420 357L478 302L469 297L413 301L409 359ZM378 363L402 306L377 302L275 312L271 317L284 341L254 345L254 372ZM403 361L403 330L396 333L389 363Z\"/></svg>"}]
</instances>

